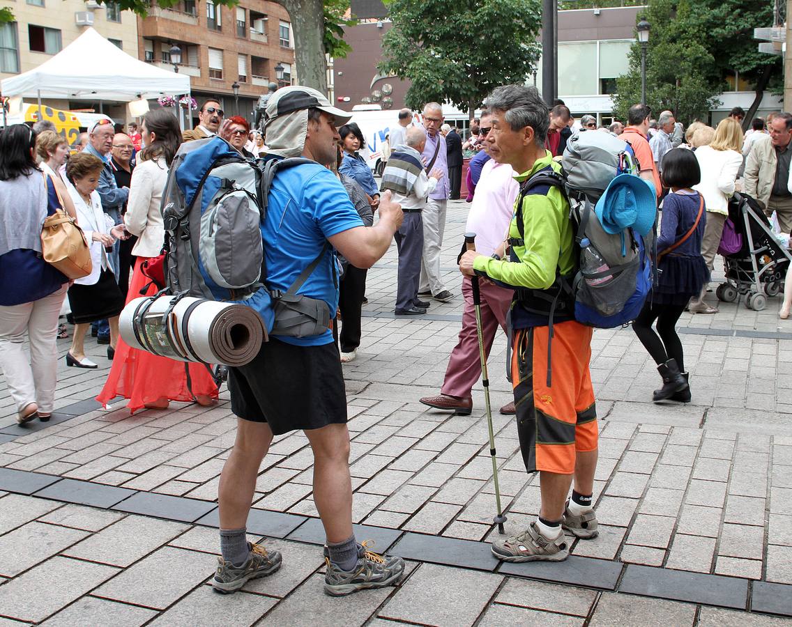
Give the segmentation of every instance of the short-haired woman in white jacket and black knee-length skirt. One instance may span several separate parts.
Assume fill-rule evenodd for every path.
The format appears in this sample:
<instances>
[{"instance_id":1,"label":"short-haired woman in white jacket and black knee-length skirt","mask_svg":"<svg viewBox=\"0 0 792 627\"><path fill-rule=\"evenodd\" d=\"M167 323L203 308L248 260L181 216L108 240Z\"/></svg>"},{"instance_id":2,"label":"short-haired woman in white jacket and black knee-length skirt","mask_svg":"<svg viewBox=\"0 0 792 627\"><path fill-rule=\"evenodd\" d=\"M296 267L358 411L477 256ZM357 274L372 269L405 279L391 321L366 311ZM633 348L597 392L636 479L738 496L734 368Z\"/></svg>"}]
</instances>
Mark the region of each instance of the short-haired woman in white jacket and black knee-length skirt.
<instances>
[{"instance_id":1,"label":"short-haired woman in white jacket and black knee-length skirt","mask_svg":"<svg viewBox=\"0 0 792 627\"><path fill-rule=\"evenodd\" d=\"M66 354L66 365L78 368L97 368L86 357L83 342L90 323L107 320L110 323L110 345L107 358L112 359L118 341L118 316L124 309L124 295L110 268L107 249L116 239L128 238L124 225L112 226L112 218L102 211L99 192L99 175L104 163L93 154L81 152L69 159L66 176L69 195L77 209L79 226L86 234L93 267L88 276L76 279L69 288L71 317L74 319L74 337Z\"/></svg>"}]
</instances>

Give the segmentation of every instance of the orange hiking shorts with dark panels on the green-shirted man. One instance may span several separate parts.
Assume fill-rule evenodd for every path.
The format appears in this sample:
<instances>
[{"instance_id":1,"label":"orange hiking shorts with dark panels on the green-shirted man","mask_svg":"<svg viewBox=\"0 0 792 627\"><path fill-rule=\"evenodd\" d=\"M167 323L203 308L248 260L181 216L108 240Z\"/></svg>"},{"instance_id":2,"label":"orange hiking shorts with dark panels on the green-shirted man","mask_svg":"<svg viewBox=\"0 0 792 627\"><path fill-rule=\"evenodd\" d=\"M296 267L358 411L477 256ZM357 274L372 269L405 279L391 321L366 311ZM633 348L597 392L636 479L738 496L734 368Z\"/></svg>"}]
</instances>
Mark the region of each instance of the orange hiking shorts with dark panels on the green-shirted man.
<instances>
[{"instance_id":1,"label":"orange hiking shorts with dark panels on the green-shirted man","mask_svg":"<svg viewBox=\"0 0 792 627\"><path fill-rule=\"evenodd\" d=\"M547 386L548 327L516 329L512 383L525 468L572 474L577 450L596 450L598 430L591 373L592 329L576 321L553 326Z\"/></svg>"}]
</instances>

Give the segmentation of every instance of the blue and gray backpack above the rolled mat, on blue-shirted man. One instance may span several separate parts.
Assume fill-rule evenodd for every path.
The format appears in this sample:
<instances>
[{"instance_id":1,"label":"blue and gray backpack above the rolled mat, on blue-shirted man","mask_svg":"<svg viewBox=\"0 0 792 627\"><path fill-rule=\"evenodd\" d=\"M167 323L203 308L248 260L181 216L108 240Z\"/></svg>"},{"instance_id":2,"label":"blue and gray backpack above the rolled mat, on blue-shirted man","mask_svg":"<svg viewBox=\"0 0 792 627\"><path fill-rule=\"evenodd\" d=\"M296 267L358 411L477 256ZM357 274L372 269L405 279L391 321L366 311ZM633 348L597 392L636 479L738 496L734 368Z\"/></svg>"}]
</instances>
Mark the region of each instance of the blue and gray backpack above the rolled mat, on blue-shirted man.
<instances>
[{"instance_id":1,"label":"blue and gray backpack above the rolled mat, on blue-shirted man","mask_svg":"<svg viewBox=\"0 0 792 627\"><path fill-rule=\"evenodd\" d=\"M183 143L162 194L169 293L249 304L272 335L323 333L331 319L326 302L297 292L328 253L329 243L280 292L267 286L261 238L277 171L306 163L314 161L272 159L262 165L217 137Z\"/></svg>"}]
</instances>

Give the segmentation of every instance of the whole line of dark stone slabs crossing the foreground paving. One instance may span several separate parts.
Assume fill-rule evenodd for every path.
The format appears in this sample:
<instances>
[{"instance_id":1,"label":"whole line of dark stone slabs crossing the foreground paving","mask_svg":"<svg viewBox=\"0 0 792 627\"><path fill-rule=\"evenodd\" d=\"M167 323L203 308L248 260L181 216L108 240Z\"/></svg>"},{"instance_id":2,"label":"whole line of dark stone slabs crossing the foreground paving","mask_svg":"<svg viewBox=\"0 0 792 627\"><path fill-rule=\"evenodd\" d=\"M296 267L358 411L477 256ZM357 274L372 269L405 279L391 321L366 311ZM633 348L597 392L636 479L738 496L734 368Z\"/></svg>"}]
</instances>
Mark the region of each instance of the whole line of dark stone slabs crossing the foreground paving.
<instances>
[{"instance_id":1,"label":"whole line of dark stone slabs crossing the foreground paving","mask_svg":"<svg viewBox=\"0 0 792 627\"><path fill-rule=\"evenodd\" d=\"M183 496L139 492L6 468L0 468L0 490L203 526L219 526L214 503ZM286 538L314 545L322 545L325 541L322 522L302 515L254 508L250 511L247 528L252 534L269 538ZM615 561L578 556L570 556L563 562L501 564L493 557L486 542L404 533L378 526L355 525L354 528L360 541L375 541L372 545L375 552L390 549L408 560L737 610L745 610L748 601L748 579L638 564L624 566ZM792 586L754 582L752 610L792 616Z\"/></svg>"}]
</instances>

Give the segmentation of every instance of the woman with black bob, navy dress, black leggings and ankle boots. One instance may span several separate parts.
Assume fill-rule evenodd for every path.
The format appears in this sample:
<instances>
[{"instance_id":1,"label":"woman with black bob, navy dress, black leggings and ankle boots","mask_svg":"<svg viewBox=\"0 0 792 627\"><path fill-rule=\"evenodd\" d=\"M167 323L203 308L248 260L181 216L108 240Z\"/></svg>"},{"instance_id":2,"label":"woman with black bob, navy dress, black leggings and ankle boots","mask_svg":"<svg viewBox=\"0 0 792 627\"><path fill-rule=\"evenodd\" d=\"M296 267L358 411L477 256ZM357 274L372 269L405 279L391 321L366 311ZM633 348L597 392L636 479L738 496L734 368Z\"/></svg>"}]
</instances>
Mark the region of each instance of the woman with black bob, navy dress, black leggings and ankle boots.
<instances>
[{"instance_id":1,"label":"woman with black bob, navy dress, black leggings and ankle boots","mask_svg":"<svg viewBox=\"0 0 792 627\"><path fill-rule=\"evenodd\" d=\"M663 378L663 386L654 391L652 400L688 403L690 385L676 322L691 296L698 295L710 280L701 254L706 207L704 197L692 189L701 180L695 153L681 148L669 150L663 158L662 178L671 193L663 201L657 238L657 283L633 322L633 330ZM657 333L652 329L655 321Z\"/></svg>"}]
</instances>

